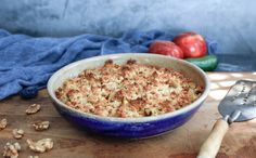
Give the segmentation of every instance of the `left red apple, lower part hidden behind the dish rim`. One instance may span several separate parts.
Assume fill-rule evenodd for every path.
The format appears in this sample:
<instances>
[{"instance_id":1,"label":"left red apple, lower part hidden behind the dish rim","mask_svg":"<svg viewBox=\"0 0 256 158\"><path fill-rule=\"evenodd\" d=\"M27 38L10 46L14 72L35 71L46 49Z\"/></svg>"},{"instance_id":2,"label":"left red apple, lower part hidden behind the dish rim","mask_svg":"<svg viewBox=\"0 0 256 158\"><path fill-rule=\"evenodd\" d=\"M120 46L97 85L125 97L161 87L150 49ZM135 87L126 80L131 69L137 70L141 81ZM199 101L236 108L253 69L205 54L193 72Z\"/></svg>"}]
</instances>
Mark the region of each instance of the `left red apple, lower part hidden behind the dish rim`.
<instances>
[{"instance_id":1,"label":"left red apple, lower part hidden behind the dish rim","mask_svg":"<svg viewBox=\"0 0 256 158\"><path fill-rule=\"evenodd\" d=\"M171 41L155 41L150 45L149 53L183 58L182 50Z\"/></svg>"}]
</instances>

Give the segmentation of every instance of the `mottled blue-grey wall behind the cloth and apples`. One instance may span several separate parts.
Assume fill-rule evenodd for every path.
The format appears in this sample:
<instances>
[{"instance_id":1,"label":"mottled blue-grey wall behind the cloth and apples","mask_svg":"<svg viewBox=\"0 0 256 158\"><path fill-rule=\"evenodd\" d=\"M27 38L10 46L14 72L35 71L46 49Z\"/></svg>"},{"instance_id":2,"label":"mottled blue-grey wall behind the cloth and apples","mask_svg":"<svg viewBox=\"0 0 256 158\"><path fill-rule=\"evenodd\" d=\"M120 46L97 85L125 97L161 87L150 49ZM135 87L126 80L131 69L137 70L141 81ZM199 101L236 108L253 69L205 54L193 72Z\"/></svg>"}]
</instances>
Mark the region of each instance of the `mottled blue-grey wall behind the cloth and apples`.
<instances>
[{"instance_id":1,"label":"mottled blue-grey wall behind the cloth and apples","mask_svg":"<svg viewBox=\"0 0 256 158\"><path fill-rule=\"evenodd\" d=\"M31 36L194 30L220 53L256 54L255 0L0 0L0 28Z\"/></svg>"}]
</instances>

